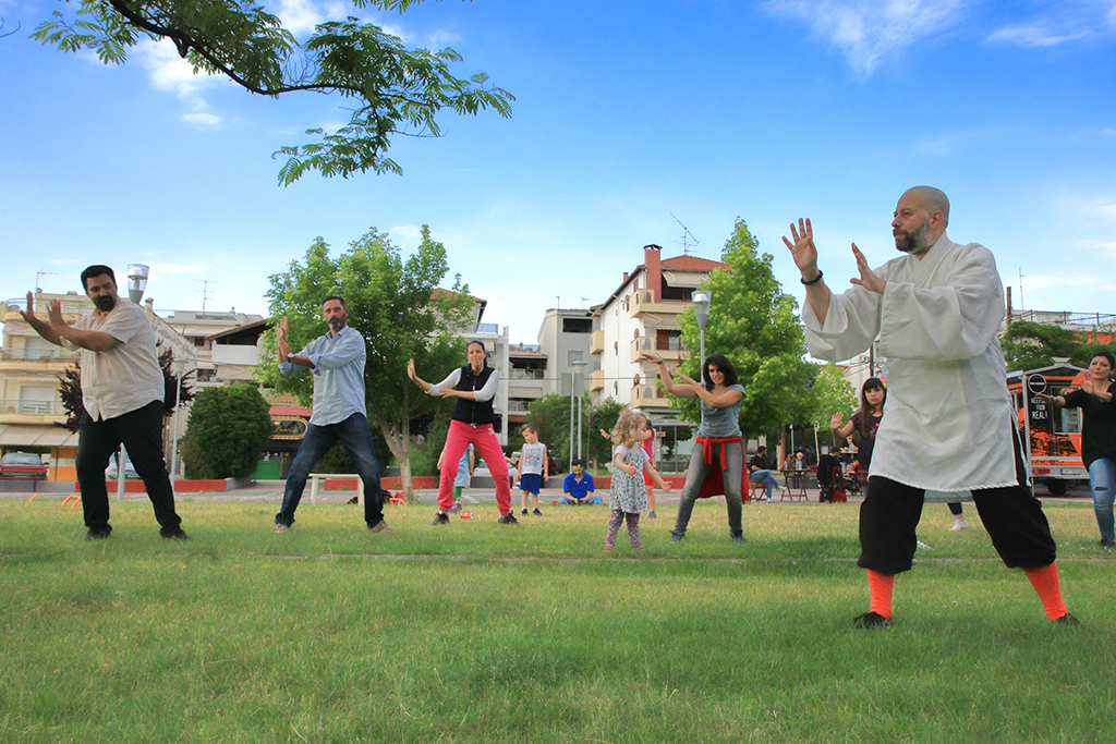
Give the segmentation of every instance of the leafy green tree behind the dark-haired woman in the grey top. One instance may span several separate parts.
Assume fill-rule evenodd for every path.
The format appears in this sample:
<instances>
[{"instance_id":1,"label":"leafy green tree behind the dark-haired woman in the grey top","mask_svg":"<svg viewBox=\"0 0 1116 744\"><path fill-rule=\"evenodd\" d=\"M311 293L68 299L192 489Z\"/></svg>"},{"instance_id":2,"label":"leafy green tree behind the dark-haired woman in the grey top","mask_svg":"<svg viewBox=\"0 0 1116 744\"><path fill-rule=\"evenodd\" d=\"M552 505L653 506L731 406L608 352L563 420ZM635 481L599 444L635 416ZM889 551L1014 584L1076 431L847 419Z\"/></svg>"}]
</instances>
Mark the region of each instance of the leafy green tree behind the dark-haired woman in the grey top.
<instances>
[{"instance_id":1,"label":"leafy green tree behind the dark-haired woman in the grey top","mask_svg":"<svg viewBox=\"0 0 1116 744\"><path fill-rule=\"evenodd\" d=\"M740 407L744 439L773 434L786 424L805 424L815 409L811 384L815 365L805 361L806 340L798 318L798 302L782 291L771 268L773 257L759 253L759 241L738 219L724 243L721 261L702 284L712 293L705 326L705 351L723 354L740 374L745 396ZM682 313L682 344L698 349L701 337L693 310ZM682 371L701 380L701 360L690 355ZM671 396L683 418L701 421L696 398Z\"/></svg>"}]
</instances>

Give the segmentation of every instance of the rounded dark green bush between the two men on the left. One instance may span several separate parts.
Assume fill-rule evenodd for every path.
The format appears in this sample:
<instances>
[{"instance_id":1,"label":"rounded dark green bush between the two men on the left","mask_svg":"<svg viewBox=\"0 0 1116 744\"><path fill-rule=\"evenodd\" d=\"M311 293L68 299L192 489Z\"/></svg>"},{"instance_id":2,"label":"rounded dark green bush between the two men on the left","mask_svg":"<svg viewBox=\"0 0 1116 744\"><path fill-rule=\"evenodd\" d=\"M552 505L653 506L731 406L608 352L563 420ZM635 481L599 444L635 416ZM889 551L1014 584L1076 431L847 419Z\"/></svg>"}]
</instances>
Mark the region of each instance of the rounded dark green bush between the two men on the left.
<instances>
[{"instance_id":1,"label":"rounded dark green bush between the two men on the left","mask_svg":"<svg viewBox=\"0 0 1116 744\"><path fill-rule=\"evenodd\" d=\"M182 461L190 477L251 474L271 436L271 406L254 385L206 387L190 408Z\"/></svg>"}]
</instances>

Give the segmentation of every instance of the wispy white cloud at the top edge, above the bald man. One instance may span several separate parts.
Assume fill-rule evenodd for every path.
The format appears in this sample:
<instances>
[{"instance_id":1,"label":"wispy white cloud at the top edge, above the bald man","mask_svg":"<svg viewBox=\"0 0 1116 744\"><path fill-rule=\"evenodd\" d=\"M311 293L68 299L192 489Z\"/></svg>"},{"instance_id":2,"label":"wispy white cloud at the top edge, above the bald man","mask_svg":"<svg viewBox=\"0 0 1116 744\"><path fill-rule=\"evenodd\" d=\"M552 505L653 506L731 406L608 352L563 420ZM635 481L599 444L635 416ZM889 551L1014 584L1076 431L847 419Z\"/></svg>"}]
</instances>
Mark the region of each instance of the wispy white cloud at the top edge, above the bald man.
<instances>
[{"instance_id":1,"label":"wispy white cloud at the top edge, above the bald man","mask_svg":"<svg viewBox=\"0 0 1116 744\"><path fill-rule=\"evenodd\" d=\"M966 0L770 0L777 16L809 25L867 77L917 41L955 26Z\"/></svg>"}]
</instances>

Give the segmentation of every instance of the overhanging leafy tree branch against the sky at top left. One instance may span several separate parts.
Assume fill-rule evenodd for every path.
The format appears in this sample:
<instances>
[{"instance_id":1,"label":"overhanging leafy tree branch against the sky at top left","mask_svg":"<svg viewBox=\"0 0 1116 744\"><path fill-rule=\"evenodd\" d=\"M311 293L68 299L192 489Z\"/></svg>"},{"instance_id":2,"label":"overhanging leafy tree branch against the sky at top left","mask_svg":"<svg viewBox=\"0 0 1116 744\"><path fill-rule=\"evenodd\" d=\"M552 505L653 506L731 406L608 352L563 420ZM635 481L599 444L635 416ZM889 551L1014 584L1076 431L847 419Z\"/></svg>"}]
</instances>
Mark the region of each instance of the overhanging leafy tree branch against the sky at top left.
<instances>
[{"instance_id":1,"label":"overhanging leafy tree branch against the sky at top left","mask_svg":"<svg viewBox=\"0 0 1116 744\"><path fill-rule=\"evenodd\" d=\"M357 8L404 12L421 0L353 0ZM492 108L511 116L507 90L484 74L464 79L450 71L453 49L407 49L401 39L356 18L320 23L299 41L280 19L244 0L81 0L71 16L56 10L31 38L62 51L90 49L123 64L144 39L167 39L194 73L223 76L246 90L278 98L311 91L354 100L346 126L318 142L281 147L289 156L279 181L290 185L307 171L349 177L356 172L401 173L386 156L394 135L441 136L443 109L473 114Z\"/></svg>"}]
</instances>

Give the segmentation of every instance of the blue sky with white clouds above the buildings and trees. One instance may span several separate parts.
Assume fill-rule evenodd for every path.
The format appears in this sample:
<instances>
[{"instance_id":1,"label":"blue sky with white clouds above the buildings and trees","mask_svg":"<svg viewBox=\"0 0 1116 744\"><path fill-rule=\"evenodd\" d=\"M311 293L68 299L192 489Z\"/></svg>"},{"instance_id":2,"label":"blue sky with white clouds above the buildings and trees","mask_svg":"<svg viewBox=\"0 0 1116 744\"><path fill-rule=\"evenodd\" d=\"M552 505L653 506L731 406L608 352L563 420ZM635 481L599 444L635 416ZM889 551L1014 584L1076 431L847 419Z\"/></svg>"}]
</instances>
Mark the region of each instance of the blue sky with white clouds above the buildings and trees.
<instances>
[{"instance_id":1,"label":"blue sky with white clouds above the buildings and trees","mask_svg":"<svg viewBox=\"0 0 1116 744\"><path fill-rule=\"evenodd\" d=\"M299 38L353 15L452 47L512 116L397 137L402 176L285 187L272 155L336 129L345 102L254 96L152 41L105 66L28 38L74 4L0 0L0 299L146 263L158 312L267 315L269 277L317 236L339 252L376 229L406 254L429 224L445 286L461 274L484 321L533 344L548 308L604 301L643 245L715 260L738 219L801 303L782 235L811 218L843 291L850 243L897 255L895 203L926 184L1014 307L1116 312L1116 0L263 4Z\"/></svg>"}]
</instances>

